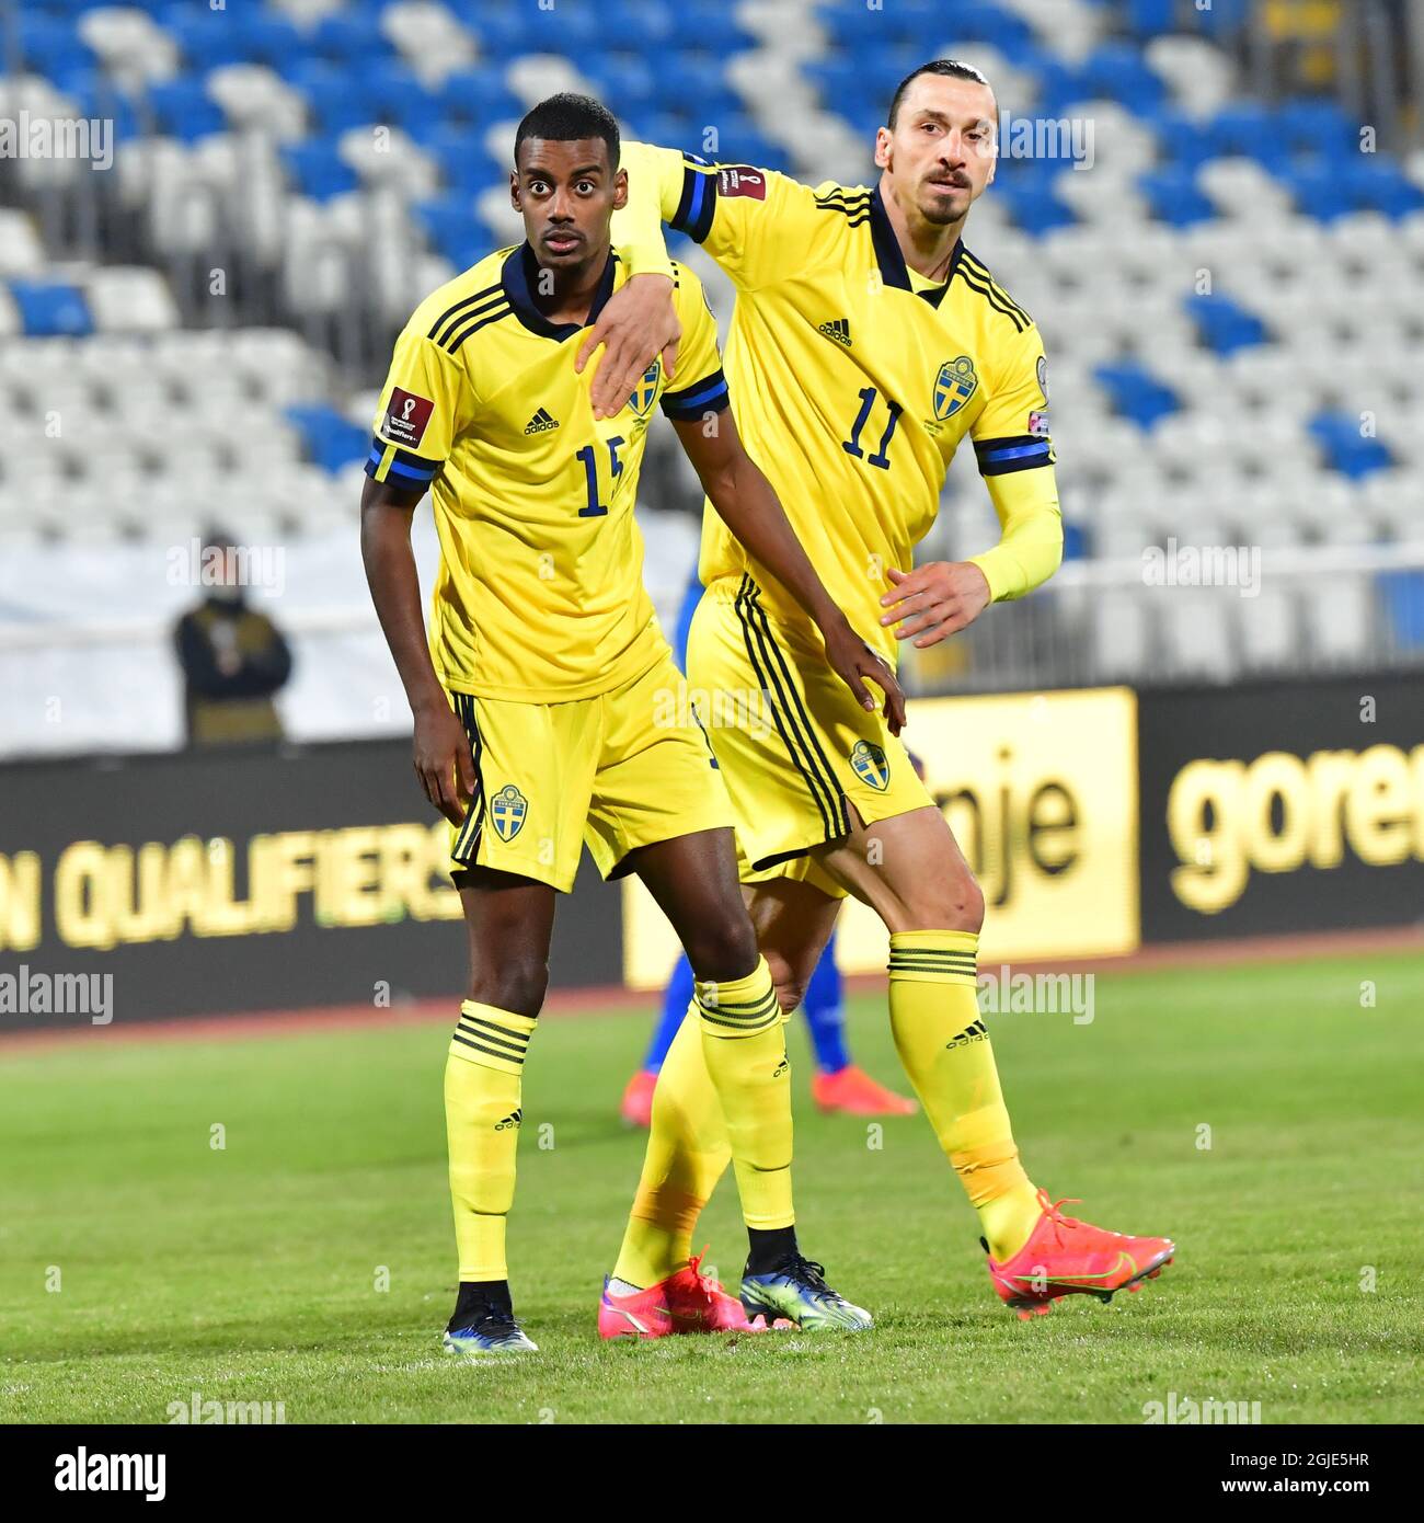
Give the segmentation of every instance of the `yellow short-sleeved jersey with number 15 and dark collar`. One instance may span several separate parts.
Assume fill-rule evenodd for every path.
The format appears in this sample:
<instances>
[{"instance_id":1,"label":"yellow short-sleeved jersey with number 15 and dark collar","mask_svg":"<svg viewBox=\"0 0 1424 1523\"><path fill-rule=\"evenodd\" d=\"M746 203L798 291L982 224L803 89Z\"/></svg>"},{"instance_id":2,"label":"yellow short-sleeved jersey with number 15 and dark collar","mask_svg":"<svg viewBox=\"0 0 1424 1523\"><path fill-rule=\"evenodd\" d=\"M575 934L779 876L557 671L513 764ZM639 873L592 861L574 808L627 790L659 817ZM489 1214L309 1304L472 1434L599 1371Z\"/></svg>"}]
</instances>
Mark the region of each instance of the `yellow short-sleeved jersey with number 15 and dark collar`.
<instances>
[{"instance_id":1,"label":"yellow short-sleeved jersey with number 15 and dark collar","mask_svg":"<svg viewBox=\"0 0 1424 1523\"><path fill-rule=\"evenodd\" d=\"M647 672L667 650L643 586L634 496L653 408L728 405L717 327L698 277L675 270L676 390L653 361L623 411L594 420L585 329L550 323L528 244L501 248L416 308L396 341L367 474L433 489L440 573L431 659L448 688L557 704ZM592 323L627 279L609 256Z\"/></svg>"}]
</instances>

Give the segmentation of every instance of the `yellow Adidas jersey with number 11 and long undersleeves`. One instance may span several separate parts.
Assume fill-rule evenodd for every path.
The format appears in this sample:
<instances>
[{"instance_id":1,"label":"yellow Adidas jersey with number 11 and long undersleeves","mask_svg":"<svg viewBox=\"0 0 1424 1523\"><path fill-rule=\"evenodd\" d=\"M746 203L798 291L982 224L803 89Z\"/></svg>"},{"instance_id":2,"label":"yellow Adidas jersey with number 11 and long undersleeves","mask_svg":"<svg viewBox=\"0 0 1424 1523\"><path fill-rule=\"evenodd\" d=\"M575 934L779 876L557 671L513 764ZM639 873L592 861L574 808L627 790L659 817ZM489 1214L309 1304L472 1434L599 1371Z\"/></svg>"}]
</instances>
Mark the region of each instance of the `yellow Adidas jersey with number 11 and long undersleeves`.
<instances>
[{"instance_id":1,"label":"yellow Adidas jersey with number 11 and long undersleeves","mask_svg":"<svg viewBox=\"0 0 1424 1523\"><path fill-rule=\"evenodd\" d=\"M656 267L664 221L731 276L737 428L857 631L894 659L894 631L879 626L885 570L909 570L966 434L1004 525L973 557L991 594L1019 597L1052 573L1062 521L1043 344L963 244L934 285L906 267L879 189L812 190L646 143L626 143L623 164L629 204L614 238L638 270ZM804 621L708 506L702 580L748 568L778 618Z\"/></svg>"}]
</instances>

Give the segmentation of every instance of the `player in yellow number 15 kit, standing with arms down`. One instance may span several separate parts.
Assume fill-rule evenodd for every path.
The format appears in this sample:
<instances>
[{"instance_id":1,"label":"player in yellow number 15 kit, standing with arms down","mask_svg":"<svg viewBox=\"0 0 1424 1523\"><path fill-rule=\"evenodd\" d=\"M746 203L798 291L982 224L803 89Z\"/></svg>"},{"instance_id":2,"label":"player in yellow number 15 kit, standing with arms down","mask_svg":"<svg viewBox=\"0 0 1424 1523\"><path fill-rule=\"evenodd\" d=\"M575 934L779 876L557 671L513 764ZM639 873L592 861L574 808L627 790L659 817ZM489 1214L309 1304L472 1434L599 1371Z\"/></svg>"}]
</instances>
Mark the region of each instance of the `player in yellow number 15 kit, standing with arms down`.
<instances>
[{"instance_id":1,"label":"player in yellow number 15 kit, standing with arms down","mask_svg":"<svg viewBox=\"0 0 1424 1523\"><path fill-rule=\"evenodd\" d=\"M519 125L515 166L527 241L416 309L381 394L361 503L372 597L414 713L416 771L451 821L469 928L469 998L445 1074L460 1250L445 1346L535 1346L513 1316L504 1253L519 1074L544 1002L556 892L573 888L585 842L606 877L640 874L696 972L684 1055L693 1104L711 1095L719 1142L730 1136L751 1238L742 1305L768 1323L868 1327L797 1247L783 1017L737 889L717 763L643 588L634 496L656 404L730 528L821 632L821 661L851 702L874 708L867 676L899 723L903 694L742 448L716 324L690 271L673 276L676 381L655 359L623 407L594 417L571 340L626 279L609 245L627 186L612 116L580 96L542 102ZM440 535L429 644L410 548L426 487ZM652 1196L667 1208L678 1189L673 1177ZM634 1247L618 1270L641 1276L643 1263ZM658 1316L615 1317L618 1333L748 1325L696 1266L678 1269Z\"/></svg>"}]
</instances>

